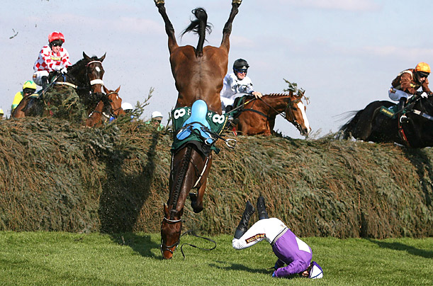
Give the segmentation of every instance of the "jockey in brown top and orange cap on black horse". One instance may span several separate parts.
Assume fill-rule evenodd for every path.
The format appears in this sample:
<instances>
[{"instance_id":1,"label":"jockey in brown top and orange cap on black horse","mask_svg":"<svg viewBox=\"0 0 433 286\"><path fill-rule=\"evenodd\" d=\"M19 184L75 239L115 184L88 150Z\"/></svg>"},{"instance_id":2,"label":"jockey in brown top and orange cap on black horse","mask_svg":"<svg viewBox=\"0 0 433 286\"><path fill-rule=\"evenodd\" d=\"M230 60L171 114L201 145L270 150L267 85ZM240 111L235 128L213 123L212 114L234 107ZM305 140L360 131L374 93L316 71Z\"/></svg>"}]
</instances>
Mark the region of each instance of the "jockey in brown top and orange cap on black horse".
<instances>
[{"instance_id":1,"label":"jockey in brown top and orange cap on black horse","mask_svg":"<svg viewBox=\"0 0 433 286\"><path fill-rule=\"evenodd\" d=\"M399 111L405 108L407 99L415 95L420 87L428 96L433 94L427 79L429 74L430 66L425 62L420 62L415 69L405 69L393 80L388 95L393 101L398 101ZM400 122L407 122L406 115L401 116Z\"/></svg>"}]
</instances>

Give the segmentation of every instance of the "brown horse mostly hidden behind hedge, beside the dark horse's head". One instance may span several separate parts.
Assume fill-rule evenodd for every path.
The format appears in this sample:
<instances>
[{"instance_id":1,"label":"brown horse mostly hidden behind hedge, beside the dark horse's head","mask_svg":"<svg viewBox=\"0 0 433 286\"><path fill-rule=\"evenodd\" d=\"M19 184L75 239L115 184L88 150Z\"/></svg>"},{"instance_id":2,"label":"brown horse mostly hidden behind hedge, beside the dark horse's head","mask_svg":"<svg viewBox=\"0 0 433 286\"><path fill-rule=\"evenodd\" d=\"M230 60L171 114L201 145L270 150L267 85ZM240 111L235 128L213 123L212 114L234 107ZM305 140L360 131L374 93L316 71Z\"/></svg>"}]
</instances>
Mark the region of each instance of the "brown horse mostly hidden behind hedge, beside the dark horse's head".
<instances>
[{"instance_id":1,"label":"brown horse mostly hidden behind hedge, beside the dark horse's head","mask_svg":"<svg viewBox=\"0 0 433 286\"><path fill-rule=\"evenodd\" d=\"M122 109L122 98L119 96L120 86L116 91L108 90L108 88L103 86L103 91L105 91L105 95L86 119L87 127L100 125L104 118L109 120L111 116L117 118L119 115L125 114L125 111Z\"/></svg>"}]
</instances>

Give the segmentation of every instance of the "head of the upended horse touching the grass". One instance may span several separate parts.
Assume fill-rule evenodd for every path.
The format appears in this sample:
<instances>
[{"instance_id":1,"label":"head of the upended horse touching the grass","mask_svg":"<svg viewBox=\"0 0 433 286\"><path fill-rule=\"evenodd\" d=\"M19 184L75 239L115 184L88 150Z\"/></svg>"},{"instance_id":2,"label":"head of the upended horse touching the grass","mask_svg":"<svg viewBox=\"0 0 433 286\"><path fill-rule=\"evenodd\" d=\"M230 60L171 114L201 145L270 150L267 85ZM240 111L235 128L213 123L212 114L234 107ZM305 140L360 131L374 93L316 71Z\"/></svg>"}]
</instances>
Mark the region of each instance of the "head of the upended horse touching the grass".
<instances>
[{"instance_id":1,"label":"head of the upended horse touching the grass","mask_svg":"<svg viewBox=\"0 0 433 286\"><path fill-rule=\"evenodd\" d=\"M164 259L171 259L176 246L179 245L181 238L182 221L181 216L184 213L182 208L169 210L164 204L164 219L161 223L161 254Z\"/></svg>"}]
</instances>

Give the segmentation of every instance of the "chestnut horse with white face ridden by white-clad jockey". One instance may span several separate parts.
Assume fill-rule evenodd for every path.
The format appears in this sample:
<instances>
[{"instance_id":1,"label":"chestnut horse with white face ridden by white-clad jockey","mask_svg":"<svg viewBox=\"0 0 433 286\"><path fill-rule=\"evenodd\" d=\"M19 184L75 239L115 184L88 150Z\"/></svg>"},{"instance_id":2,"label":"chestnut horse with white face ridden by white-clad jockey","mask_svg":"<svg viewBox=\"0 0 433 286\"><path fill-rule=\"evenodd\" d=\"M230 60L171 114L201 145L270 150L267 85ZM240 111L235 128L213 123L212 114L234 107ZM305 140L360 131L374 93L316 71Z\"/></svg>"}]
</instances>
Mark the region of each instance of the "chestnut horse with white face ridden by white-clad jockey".
<instances>
[{"instance_id":1,"label":"chestnut horse with white face ridden by white-clad jockey","mask_svg":"<svg viewBox=\"0 0 433 286\"><path fill-rule=\"evenodd\" d=\"M244 96L244 103L235 115L236 130L242 135L269 136L274 130L276 116L282 115L299 130L300 135L308 136L311 127L302 98L303 93L294 94L293 91L265 94L257 99Z\"/></svg>"}]
</instances>

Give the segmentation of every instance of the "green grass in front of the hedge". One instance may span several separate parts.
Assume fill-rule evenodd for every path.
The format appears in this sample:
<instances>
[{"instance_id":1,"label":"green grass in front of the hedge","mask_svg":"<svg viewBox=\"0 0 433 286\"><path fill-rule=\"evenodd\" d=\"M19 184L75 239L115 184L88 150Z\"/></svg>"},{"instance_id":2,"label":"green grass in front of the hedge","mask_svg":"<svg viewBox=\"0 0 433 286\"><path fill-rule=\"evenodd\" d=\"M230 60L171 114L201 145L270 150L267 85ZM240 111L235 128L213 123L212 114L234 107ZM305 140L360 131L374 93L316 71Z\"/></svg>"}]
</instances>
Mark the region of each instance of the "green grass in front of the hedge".
<instances>
[{"instance_id":1,"label":"green grass in front of the hedge","mask_svg":"<svg viewBox=\"0 0 433 286\"><path fill-rule=\"evenodd\" d=\"M0 232L0 285L432 285L433 238L309 237L322 280L275 279L276 257L266 241L235 251L231 237L212 237L213 251L184 246L171 261L159 234ZM193 236L181 243L211 247Z\"/></svg>"}]
</instances>

